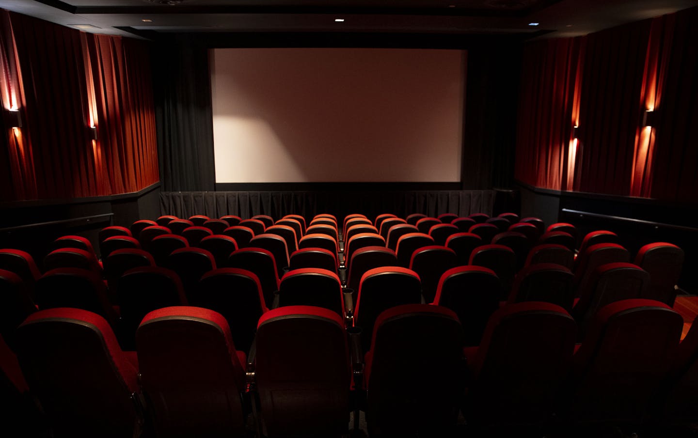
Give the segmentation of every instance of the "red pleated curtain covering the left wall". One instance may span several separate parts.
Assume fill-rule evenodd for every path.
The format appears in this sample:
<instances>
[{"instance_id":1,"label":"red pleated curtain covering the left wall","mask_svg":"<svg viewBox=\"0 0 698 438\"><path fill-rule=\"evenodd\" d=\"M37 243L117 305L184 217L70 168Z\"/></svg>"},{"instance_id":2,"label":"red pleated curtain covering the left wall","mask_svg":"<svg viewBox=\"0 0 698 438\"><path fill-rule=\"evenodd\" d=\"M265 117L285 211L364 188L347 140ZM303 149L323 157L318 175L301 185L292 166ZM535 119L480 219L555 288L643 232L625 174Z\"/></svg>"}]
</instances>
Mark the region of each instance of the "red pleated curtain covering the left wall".
<instances>
[{"instance_id":1,"label":"red pleated curtain covering the left wall","mask_svg":"<svg viewBox=\"0 0 698 438\"><path fill-rule=\"evenodd\" d=\"M18 55L23 149L33 158L9 166L13 190L1 199L114 195L158 181L147 48L1 14ZM13 50L8 38L0 43Z\"/></svg>"}]
</instances>

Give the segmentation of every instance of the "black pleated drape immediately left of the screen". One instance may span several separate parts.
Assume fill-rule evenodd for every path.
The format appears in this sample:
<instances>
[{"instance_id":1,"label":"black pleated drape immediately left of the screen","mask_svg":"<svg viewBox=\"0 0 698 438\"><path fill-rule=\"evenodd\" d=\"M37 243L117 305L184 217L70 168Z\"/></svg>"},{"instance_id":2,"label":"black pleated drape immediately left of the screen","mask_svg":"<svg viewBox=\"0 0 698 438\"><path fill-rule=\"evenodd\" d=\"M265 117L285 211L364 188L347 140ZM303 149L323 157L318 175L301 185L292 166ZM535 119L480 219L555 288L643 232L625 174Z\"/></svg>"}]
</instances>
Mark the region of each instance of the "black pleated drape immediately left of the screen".
<instances>
[{"instance_id":1,"label":"black pleated drape immediately left of the screen","mask_svg":"<svg viewBox=\"0 0 698 438\"><path fill-rule=\"evenodd\" d=\"M215 190L208 51L174 39L156 45L153 59L163 190Z\"/></svg>"}]
</instances>

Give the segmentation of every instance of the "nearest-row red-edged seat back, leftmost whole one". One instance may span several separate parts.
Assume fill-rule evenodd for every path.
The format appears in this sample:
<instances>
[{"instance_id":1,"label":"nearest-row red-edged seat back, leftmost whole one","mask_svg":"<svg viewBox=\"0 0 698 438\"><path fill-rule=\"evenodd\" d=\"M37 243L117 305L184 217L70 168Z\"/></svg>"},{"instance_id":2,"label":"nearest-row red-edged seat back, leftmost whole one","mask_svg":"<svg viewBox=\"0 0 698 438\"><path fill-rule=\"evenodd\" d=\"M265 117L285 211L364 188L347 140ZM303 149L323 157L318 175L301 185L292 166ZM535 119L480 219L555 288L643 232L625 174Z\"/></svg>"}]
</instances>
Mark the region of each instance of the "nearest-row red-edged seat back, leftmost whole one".
<instances>
[{"instance_id":1,"label":"nearest-row red-edged seat back, leftmost whole one","mask_svg":"<svg viewBox=\"0 0 698 438\"><path fill-rule=\"evenodd\" d=\"M138 365L100 315L75 308L30 315L17 329L17 358L54 437L140 435Z\"/></svg>"}]
</instances>

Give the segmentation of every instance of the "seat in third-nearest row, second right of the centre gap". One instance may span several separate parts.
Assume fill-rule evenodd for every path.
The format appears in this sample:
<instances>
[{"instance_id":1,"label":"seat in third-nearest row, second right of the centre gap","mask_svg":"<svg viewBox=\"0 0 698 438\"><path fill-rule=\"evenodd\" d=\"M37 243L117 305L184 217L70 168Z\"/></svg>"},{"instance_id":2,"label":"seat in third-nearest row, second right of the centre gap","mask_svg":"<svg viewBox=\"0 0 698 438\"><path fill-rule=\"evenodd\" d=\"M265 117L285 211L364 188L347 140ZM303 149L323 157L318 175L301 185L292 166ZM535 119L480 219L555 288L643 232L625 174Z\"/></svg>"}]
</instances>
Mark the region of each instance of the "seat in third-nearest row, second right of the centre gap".
<instances>
[{"instance_id":1,"label":"seat in third-nearest row, second right of the centre gap","mask_svg":"<svg viewBox=\"0 0 698 438\"><path fill-rule=\"evenodd\" d=\"M441 275L455 266L458 266L456 252L445 246L424 246L412 253L410 269L422 280L422 296L427 303L436 296Z\"/></svg>"}]
</instances>

